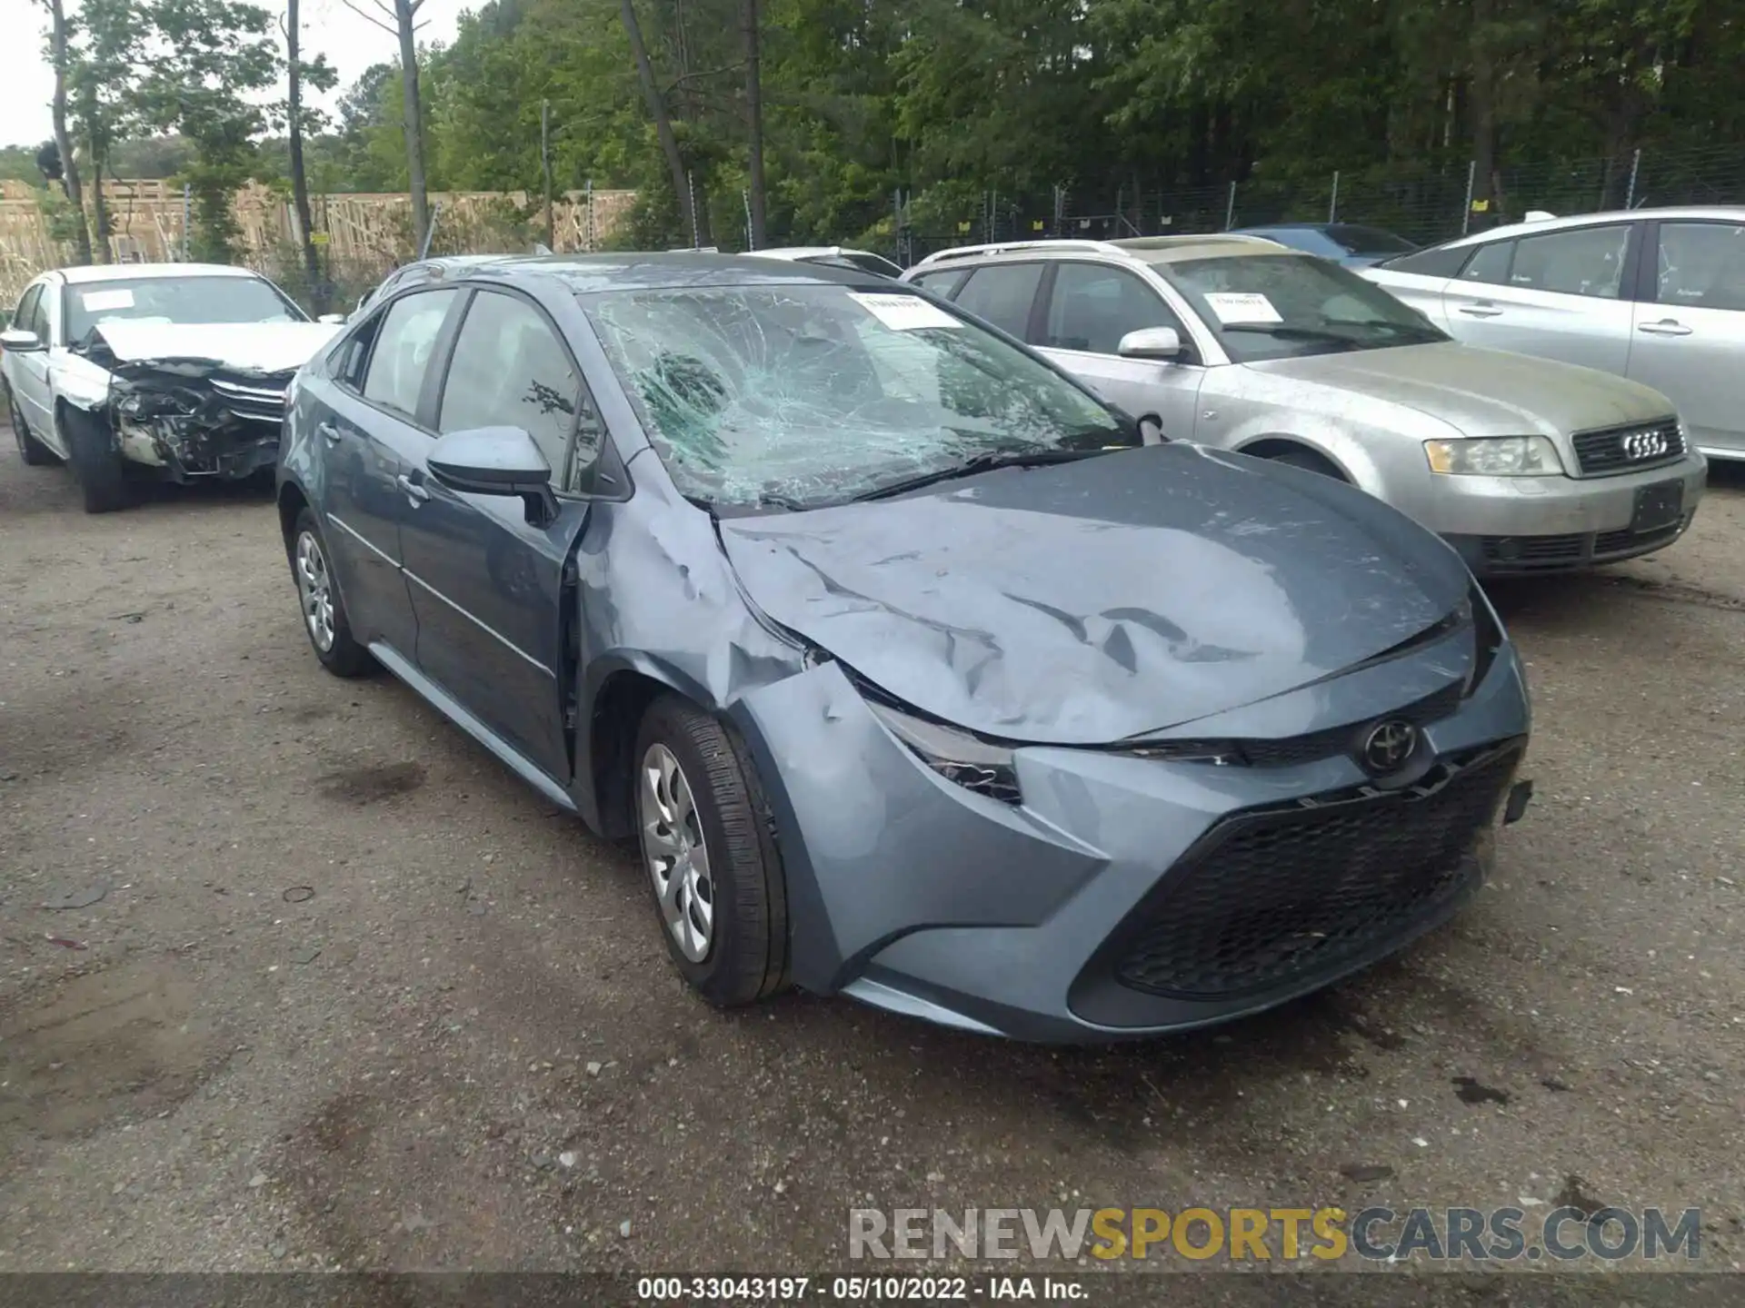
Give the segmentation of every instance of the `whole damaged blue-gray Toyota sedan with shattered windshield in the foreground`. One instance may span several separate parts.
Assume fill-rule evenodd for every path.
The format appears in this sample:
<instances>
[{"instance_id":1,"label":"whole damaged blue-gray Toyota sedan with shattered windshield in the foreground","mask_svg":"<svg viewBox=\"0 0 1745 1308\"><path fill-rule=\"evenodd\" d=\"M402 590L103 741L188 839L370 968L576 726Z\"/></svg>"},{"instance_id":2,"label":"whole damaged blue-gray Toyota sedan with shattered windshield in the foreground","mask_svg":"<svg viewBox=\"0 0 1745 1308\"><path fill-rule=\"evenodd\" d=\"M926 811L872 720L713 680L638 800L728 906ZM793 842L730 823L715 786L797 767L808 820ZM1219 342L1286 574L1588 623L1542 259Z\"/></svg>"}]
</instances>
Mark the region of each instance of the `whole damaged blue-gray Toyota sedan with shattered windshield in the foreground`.
<instances>
[{"instance_id":1,"label":"whole damaged blue-gray Toyota sedan with shattered windshield in the foreground","mask_svg":"<svg viewBox=\"0 0 1745 1308\"><path fill-rule=\"evenodd\" d=\"M1227 1020L1445 921L1529 797L1441 541L850 269L408 288L293 384L279 516L316 657L633 842L717 1005Z\"/></svg>"}]
</instances>

